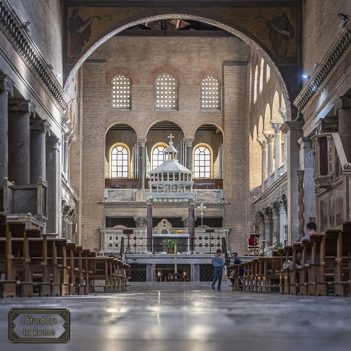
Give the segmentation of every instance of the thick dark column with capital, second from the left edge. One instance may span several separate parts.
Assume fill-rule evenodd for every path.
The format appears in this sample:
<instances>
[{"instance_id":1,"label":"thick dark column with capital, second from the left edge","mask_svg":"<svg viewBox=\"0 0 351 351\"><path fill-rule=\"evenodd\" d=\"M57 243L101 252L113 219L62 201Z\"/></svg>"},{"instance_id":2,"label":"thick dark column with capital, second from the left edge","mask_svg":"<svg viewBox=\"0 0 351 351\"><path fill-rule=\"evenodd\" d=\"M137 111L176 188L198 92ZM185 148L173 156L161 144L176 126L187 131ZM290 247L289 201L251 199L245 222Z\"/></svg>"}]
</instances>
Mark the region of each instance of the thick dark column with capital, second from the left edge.
<instances>
[{"instance_id":1,"label":"thick dark column with capital, second from the left edge","mask_svg":"<svg viewBox=\"0 0 351 351\"><path fill-rule=\"evenodd\" d=\"M29 116L35 117L31 100L11 101L8 106L8 179L15 184L30 184Z\"/></svg>"}]
</instances>

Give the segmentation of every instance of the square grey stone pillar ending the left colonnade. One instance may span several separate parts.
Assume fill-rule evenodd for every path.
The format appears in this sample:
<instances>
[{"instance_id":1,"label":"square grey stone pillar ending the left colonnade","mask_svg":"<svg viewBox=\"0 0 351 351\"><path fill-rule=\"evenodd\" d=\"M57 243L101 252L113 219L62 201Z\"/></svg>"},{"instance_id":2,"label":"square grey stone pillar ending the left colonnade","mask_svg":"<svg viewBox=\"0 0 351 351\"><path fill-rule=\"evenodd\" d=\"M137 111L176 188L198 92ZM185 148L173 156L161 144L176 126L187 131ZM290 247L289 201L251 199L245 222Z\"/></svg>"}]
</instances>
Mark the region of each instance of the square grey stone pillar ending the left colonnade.
<instances>
[{"instance_id":1,"label":"square grey stone pillar ending the left colonnade","mask_svg":"<svg viewBox=\"0 0 351 351\"><path fill-rule=\"evenodd\" d=\"M61 220L61 170L60 170L60 148L61 139L55 134L46 135L46 180L47 189L47 217L46 232L60 233Z\"/></svg>"}]
</instances>

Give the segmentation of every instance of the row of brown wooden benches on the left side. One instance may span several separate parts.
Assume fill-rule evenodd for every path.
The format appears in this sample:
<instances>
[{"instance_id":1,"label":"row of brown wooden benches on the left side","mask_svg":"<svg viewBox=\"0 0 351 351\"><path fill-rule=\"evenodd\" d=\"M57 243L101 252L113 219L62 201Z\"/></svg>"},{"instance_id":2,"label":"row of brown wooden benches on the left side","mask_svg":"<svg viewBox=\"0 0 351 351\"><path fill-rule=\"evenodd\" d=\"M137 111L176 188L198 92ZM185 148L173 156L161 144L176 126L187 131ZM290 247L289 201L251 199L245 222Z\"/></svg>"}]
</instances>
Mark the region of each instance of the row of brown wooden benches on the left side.
<instances>
[{"instance_id":1,"label":"row of brown wooden benches on the left side","mask_svg":"<svg viewBox=\"0 0 351 351\"><path fill-rule=\"evenodd\" d=\"M0 297L125 291L130 266L0 214Z\"/></svg>"}]
</instances>

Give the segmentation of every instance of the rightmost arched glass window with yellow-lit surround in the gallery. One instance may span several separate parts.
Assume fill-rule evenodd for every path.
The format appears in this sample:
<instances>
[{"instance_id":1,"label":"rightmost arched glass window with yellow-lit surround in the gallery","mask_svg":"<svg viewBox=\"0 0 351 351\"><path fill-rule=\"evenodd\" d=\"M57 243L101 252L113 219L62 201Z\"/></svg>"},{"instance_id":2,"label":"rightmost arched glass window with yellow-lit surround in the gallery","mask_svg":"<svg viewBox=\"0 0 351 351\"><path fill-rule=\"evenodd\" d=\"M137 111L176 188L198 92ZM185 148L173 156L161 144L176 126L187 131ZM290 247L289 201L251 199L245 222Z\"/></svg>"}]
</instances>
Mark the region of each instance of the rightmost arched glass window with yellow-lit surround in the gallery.
<instances>
[{"instance_id":1,"label":"rightmost arched glass window with yellow-lit surround in the gallery","mask_svg":"<svg viewBox=\"0 0 351 351\"><path fill-rule=\"evenodd\" d=\"M213 153L209 145L201 143L194 147L194 178L212 178Z\"/></svg>"}]
</instances>

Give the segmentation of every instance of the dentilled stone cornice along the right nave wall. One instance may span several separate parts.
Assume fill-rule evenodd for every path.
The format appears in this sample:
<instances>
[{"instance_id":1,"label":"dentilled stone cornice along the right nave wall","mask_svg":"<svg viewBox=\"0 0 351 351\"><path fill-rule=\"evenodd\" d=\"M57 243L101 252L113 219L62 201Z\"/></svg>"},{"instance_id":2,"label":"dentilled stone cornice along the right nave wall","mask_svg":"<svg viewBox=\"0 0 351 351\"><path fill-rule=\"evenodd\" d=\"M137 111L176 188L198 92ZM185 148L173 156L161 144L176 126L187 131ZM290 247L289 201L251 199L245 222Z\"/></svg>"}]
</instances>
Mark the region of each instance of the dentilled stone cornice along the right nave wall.
<instances>
[{"instance_id":1,"label":"dentilled stone cornice along the right nave wall","mask_svg":"<svg viewBox=\"0 0 351 351\"><path fill-rule=\"evenodd\" d=\"M325 54L323 60L318 65L318 70L314 72L309 83L304 86L300 94L294 100L294 105L303 112L303 109L313 100L318 88L327 80L329 73L338 64L343 54L351 46L351 20L349 19L345 27Z\"/></svg>"}]
</instances>

